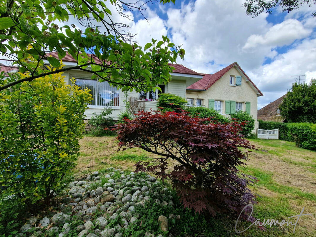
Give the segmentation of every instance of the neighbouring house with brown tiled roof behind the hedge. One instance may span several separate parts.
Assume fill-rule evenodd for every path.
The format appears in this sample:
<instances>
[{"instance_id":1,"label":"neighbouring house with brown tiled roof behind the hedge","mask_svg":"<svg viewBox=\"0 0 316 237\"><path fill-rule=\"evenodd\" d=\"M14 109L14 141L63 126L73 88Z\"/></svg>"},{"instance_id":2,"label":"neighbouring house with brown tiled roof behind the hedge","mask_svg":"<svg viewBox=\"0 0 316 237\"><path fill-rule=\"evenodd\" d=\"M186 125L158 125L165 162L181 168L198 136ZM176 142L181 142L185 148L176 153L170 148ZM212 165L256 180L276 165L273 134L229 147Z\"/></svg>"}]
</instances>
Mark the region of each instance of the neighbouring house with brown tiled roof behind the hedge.
<instances>
[{"instance_id":1,"label":"neighbouring house with brown tiled roof behind the hedge","mask_svg":"<svg viewBox=\"0 0 316 237\"><path fill-rule=\"evenodd\" d=\"M286 118L280 114L279 106L282 104L286 94L279 99L274 100L270 104L258 110L258 119L263 121L286 122Z\"/></svg>"}]
</instances>

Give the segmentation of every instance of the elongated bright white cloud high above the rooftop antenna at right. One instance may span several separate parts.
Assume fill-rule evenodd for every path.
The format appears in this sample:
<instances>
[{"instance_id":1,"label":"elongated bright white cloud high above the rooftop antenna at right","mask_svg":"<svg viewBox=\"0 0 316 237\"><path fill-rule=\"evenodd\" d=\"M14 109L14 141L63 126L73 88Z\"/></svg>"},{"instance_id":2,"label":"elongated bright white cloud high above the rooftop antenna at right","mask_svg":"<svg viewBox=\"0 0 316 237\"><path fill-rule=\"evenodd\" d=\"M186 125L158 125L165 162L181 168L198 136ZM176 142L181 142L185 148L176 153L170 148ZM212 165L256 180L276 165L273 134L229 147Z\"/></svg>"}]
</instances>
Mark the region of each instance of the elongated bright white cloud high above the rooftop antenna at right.
<instances>
[{"instance_id":1,"label":"elongated bright white cloud high above the rooftop antenna at right","mask_svg":"<svg viewBox=\"0 0 316 237\"><path fill-rule=\"evenodd\" d=\"M303 24L296 19L288 19L276 24L264 34L253 34L248 37L243 49L256 48L258 46L284 46L295 40L304 39L312 33L312 29L304 28Z\"/></svg>"}]
</instances>

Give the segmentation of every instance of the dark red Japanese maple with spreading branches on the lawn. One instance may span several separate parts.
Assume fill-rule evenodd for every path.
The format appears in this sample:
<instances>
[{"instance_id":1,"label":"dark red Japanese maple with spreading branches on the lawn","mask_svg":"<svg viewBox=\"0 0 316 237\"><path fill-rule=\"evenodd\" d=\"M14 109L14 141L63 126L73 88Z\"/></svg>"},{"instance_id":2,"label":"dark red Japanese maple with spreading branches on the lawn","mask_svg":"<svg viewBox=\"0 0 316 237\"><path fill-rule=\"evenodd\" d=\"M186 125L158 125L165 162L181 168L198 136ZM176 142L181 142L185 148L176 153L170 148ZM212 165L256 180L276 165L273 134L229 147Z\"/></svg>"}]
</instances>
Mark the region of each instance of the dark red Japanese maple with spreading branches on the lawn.
<instances>
[{"instance_id":1,"label":"dark red Japanese maple with spreading branches on the lawn","mask_svg":"<svg viewBox=\"0 0 316 237\"><path fill-rule=\"evenodd\" d=\"M119 149L140 147L160 155L153 163L138 162L136 172L171 179L185 207L199 213L207 210L213 216L239 214L245 205L255 203L246 186L255 178L238 171L247 160L249 151L244 150L255 147L238 134L237 123L206 121L210 118L185 113L140 112L135 119L116 125Z\"/></svg>"}]
</instances>

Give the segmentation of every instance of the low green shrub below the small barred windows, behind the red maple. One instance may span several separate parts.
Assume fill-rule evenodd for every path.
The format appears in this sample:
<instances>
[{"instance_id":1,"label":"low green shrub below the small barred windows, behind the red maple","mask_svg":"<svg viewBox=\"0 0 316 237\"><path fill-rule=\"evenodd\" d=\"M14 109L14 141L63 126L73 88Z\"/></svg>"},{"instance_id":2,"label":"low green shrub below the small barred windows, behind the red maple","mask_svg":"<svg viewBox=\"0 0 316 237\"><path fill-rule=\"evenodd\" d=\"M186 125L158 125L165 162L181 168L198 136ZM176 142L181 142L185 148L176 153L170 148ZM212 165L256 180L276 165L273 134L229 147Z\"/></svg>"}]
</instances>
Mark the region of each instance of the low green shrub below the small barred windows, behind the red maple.
<instances>
[{"instance_id":1,"label":"low green shrub below the small barred windows, behind the red maple","mask_svg":"<svg viewBox=\"0 0 316 237\"><path fill-rule=\"evenodd\" d=\"M189 112L191 117L198 117L201 119L211 118L214 123L225 124L229 123L229 119L217 112L214 109L209 109L205 107L187 107L185 109Z\"/></svg>"}]
</instances>

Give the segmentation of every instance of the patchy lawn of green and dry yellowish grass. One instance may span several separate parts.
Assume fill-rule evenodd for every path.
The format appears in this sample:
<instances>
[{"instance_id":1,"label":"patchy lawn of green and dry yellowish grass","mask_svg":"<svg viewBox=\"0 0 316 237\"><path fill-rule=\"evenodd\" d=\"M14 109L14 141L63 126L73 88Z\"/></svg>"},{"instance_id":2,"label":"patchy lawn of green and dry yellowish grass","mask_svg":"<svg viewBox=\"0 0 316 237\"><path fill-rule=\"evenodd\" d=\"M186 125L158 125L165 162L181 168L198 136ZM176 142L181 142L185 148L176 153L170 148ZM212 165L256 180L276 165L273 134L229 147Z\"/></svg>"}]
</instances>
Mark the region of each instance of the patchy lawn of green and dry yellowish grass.
<instances>
[{"instance_id":1,"label":"patchy lawn of green and dry yellowish grass","mask_svg":"<svg viewBox=\"0 0 316 237\"><path fill-rule=\"evenodd\" d=\"M214 232L210 236L316 236L316 152L295 147L292 142L280 140L250 140L258 150L250 153L243 173L255 176L258 182L250 189L257 194L258 204L253 216L261 221L279 220L300 214L313 216L300 217L295 234L294 226L286 230L268 229L261 231L252 226L242 234L234 232L236 220L214 220ZM129 149L117 152L115 137L89 137L80 140L81 152L75 172L78 175L107 167L133 170L138 161L157 158L142 149ZM296 218L289 221L296 222ZM210 223L211 224L211 223ZM248 226L249 223L243 223Z\"/></svg>"}]
</instances>

